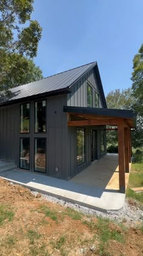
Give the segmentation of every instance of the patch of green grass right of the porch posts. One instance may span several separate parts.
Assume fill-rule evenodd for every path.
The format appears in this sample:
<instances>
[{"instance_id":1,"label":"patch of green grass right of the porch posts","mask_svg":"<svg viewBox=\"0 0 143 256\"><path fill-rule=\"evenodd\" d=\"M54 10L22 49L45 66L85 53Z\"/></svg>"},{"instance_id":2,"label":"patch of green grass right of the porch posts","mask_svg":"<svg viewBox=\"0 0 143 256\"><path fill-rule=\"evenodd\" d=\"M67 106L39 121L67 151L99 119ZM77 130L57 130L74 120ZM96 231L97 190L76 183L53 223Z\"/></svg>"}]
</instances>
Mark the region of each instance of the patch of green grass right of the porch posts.
<instances>
[{"instance_id":1,"label":"patch of green grass right of the porch posts","mask_svg":"<svg viewBox=\"0 0 143 256\"><path fill-rule=\"evenodd\" d=\"M143 192L135 193L131 188L143 187L143 163L132 163L126 196L143 204Z\"/></svg>"}]
</instances>

